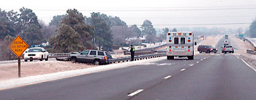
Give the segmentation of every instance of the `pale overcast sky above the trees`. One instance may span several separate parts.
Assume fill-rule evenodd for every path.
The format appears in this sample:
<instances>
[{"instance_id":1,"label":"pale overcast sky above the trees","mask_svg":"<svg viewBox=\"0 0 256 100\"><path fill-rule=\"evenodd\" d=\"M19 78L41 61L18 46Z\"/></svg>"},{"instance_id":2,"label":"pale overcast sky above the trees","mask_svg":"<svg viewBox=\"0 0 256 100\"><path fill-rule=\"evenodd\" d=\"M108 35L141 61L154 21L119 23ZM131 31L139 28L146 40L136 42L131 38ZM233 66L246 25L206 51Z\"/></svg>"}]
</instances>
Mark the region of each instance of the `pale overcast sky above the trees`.
<instances>
[{"instance_id":1,"label":"pale overcast sky above the trees","mask_svg":"<svg viewBox=\"0 0 256 100\"><path fill-rule=\"evenodd\" d=\"M147 19L155 28L248 28L246 23L251 23L256 17L256 0L4 0L0 3L0 8L7 11L18 11L21 7L32 9L45 23L50 22L54 15L75 8L87 17L91 12L117 16L127 25L141 25ZM215 25L229 23L245 24Z\"/></svg>"}]
</instances>

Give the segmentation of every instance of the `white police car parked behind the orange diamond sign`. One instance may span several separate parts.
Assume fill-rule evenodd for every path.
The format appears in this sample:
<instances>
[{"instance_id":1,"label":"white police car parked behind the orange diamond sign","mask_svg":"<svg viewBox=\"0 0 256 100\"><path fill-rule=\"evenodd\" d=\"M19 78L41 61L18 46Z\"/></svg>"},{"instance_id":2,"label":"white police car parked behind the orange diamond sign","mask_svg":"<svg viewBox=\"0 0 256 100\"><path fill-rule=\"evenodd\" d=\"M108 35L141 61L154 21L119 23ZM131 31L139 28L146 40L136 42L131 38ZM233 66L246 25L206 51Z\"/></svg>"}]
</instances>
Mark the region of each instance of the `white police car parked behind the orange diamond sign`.
<instances>
[{"instance_id":1,"label":"white police car parked behind the orange diamond sign","mask_svg":"<svg viewBox=\"0 0 256 100\"><path fill-rule=\"evenodd\" d=\"M48 61L49 59L48 51L46 51L42 47L34 47L29 49L29 51L25 51L25 54L24 54L25 62L27 62L28 60L32 62L34 59L39 59L40 61L45 59L45 61Z\"/></svg>"}]
</instances>

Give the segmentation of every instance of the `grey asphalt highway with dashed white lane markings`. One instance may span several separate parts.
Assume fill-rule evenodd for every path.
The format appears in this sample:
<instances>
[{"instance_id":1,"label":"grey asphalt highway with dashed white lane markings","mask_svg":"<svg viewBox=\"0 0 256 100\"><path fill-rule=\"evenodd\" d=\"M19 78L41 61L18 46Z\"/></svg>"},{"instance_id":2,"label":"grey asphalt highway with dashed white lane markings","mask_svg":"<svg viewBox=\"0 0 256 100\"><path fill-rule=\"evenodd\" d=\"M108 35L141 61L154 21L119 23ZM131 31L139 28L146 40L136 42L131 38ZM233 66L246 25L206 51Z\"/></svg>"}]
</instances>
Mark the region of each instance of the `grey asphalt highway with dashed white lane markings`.
<instances>
[{"instance_id":1,"label":"grey asphalt highway with dashed white lane markings","mask_svg":"<svg viewBox=\"0 0 256 100\"><path fill-rule=\"evenodd\" d=\"M222 40L217 47L222 46ZM236 51L235 51L236 52ZM165 57L166 58L166 57ZM233 54L198 54L0 91L1 99L255 99L256 74Z\"/></svg>"}]
</instances>

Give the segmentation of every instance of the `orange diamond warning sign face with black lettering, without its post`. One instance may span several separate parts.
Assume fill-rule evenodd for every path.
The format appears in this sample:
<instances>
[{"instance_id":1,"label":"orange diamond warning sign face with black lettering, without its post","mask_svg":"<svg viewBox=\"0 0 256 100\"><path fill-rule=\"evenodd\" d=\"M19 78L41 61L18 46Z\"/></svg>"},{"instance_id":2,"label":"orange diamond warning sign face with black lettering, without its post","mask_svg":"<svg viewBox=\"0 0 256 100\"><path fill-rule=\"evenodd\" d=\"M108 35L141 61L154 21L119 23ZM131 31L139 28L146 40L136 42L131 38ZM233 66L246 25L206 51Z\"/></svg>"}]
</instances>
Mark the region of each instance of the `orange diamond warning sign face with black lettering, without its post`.
<instances>
[{"instance_id":1,"label":"orange diamond warning sign face with black lettering, without its post","mask_svg":"<svg viewBox=\"0 0 256 100\"><path fill-rule=\"evenodd\" d=\"M20 36L17 36L14 41L12 41L9 48L16 54L17 57L20 57L23 52L29 48L29 45L20 38Z\"/></svg>"}]
</instances>

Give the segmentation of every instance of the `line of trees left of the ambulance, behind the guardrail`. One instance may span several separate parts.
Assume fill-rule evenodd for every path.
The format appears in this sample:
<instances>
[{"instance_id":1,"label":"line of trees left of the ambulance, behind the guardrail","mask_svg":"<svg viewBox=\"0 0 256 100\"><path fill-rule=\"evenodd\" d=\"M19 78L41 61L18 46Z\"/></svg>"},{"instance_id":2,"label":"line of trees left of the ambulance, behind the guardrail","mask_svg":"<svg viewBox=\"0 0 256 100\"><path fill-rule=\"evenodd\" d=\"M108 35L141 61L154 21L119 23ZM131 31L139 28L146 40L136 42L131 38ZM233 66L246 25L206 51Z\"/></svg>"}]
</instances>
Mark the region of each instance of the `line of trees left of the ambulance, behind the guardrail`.
<instances>
[{"instance_id":1,"label":"line of trees left of the ambulance, behind the guardrail","mask_svg":"<svg viewBox=\"0 0 256 100\"><path fill-rule=\"evenodd\" d=\"M156 40L156 33L150 20L138 28L128 26L119 17L99 12L86 17L77 9L67 9L66 14L54 16L46 25L32 9L22 7L19 12L0 9L0 60L15 57L8 46L16 36L29 46L49 42L46 48L50 52L70 52L97 48L112 51L113 46L127 43L127 38L142 36L147 41L161 40Z\"/></svg>"}]
</instances>

